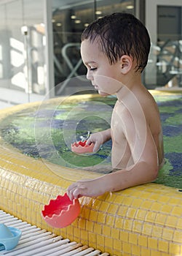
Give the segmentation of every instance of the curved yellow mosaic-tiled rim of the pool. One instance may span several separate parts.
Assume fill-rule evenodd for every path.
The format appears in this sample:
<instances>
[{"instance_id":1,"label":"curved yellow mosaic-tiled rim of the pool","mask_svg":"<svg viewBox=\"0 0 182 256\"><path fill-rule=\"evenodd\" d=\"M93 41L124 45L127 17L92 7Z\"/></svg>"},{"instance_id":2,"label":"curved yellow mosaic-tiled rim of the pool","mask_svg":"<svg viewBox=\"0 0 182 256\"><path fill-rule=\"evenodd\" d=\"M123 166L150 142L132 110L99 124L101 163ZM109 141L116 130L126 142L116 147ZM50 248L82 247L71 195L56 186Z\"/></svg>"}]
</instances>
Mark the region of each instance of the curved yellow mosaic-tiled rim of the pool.
<instances>
[{"instance_id":1,"label":"curved yellow mosaic-tiled rim of the pool","mask_svg":"<svg viewBox=\"0 0 182 256\"><path fill-rule=\"evenodd\" d=\"M54 99L58 100L58 99ZM1 110L0 120L39 102ZM110 255L182 255L182 192L159 184L145 184L97 198L79 198L81 213L70 226L55 229L41 218L44 204L63 195L84 172L32 159L0 141L0 208L32 225ZM52 172L58 170L59 176Z\"/></svg>"}]
</instances>

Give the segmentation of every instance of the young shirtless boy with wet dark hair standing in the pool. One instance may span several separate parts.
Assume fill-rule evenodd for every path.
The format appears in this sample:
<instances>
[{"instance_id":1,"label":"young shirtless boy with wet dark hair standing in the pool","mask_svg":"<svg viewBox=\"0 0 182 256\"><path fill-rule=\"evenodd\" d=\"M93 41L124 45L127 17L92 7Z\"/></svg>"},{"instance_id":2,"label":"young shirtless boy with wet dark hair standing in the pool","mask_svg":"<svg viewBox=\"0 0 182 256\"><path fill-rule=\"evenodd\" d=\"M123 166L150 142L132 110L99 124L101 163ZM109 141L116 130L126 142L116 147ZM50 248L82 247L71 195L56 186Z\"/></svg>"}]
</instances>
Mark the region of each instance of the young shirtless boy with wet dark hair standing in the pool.
<instances>
[{"instance_id":1,"label":"young shirtless boy with wet dark hair standing in the pool","mask_svg":"<svg viewBox=\"0 0 182 256\"><path fill-rule=\"evenodd\" d=\"M81 55L87 79L101 96L117 97L111 129L92 134L87 144L95 143L97 151L111 139L115 171L71 184L67 191L71 200L126 189L157 178L164 159L162 126L157 104L141 82L150 45L146 27L128 13L107 15L84 30Z\"/></svg>"}]
</instances>

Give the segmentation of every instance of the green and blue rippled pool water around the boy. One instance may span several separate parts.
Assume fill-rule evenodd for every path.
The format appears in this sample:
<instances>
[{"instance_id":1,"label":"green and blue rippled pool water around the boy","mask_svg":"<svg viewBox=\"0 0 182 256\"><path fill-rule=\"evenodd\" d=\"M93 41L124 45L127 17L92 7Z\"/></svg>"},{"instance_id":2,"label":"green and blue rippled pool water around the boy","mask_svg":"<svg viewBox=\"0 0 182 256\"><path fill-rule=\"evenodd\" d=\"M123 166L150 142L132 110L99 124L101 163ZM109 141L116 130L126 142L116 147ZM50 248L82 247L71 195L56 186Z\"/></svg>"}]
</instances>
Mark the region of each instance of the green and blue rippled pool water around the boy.
<instances>
[{"instance_id":1,"label":"green and blue rippled pool water around the boy","mask_svg":"<svg viewBox=\"0 0 182 256\"><path fill-rule=\"evenodd\" d=\"M157 183L182 188L182 97L181 94L154 94L161 113L165 166ZM1 136L23 154L47 159L57 165L111 172L111 141L95 154L71 152L71 143L86 138L88 131L110 127L116 97L71 97L43 102L40 108L25 108L1 121Z\"/></svg>"}]
</instances>

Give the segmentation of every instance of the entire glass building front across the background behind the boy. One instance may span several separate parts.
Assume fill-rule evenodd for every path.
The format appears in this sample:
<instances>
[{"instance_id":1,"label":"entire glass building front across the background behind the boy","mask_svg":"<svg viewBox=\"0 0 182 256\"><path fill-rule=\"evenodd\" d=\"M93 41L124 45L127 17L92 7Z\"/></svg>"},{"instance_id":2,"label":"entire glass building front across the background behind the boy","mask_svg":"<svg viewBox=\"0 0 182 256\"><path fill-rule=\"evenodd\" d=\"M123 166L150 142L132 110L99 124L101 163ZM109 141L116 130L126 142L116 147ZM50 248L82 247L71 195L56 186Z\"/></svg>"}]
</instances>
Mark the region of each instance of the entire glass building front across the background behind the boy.
<instances>
[{"instance_id":1,"label":"entire glass building front across the background behind the boy","mask_svg":"<svg viewBox=\"0 0 182 256\"><path fill-rule=\"evenodd\" d=\"M112 12L140 16L149 29L144 85L181 87L181 0L173 6L170 0L1 0L0 101L18 104L42 99L49 91L48 97L67 94L68 78L74 77L74 86L89 89L81 34L92 20Z\"/></svg>"}]
</instances>

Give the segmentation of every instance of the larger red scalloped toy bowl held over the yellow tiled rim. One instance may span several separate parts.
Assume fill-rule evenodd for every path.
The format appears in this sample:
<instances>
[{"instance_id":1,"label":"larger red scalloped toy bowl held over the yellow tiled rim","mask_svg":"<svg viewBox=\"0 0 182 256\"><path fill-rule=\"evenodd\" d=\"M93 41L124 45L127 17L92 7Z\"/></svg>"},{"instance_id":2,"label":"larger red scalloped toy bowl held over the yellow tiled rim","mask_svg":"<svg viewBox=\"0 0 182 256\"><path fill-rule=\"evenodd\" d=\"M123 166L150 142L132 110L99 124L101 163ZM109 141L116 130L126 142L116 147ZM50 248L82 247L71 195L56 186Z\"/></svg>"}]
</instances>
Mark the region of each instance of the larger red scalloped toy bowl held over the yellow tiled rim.
<instances>
[{"instance_id":1,"label":"larger red scalloped toy bowl held over the yellow tiled rim","mask_svg":"<svg viewBox=\"0 0 182 256\"><path fill-rule=\"evenodd\" d=\"M68 195L58 195L55 200L50 200L49 205L44 206L41 215L52 227L66 227L78 217L80 212L79 200L71 201Z\"/></svg>"}]
</instances>

